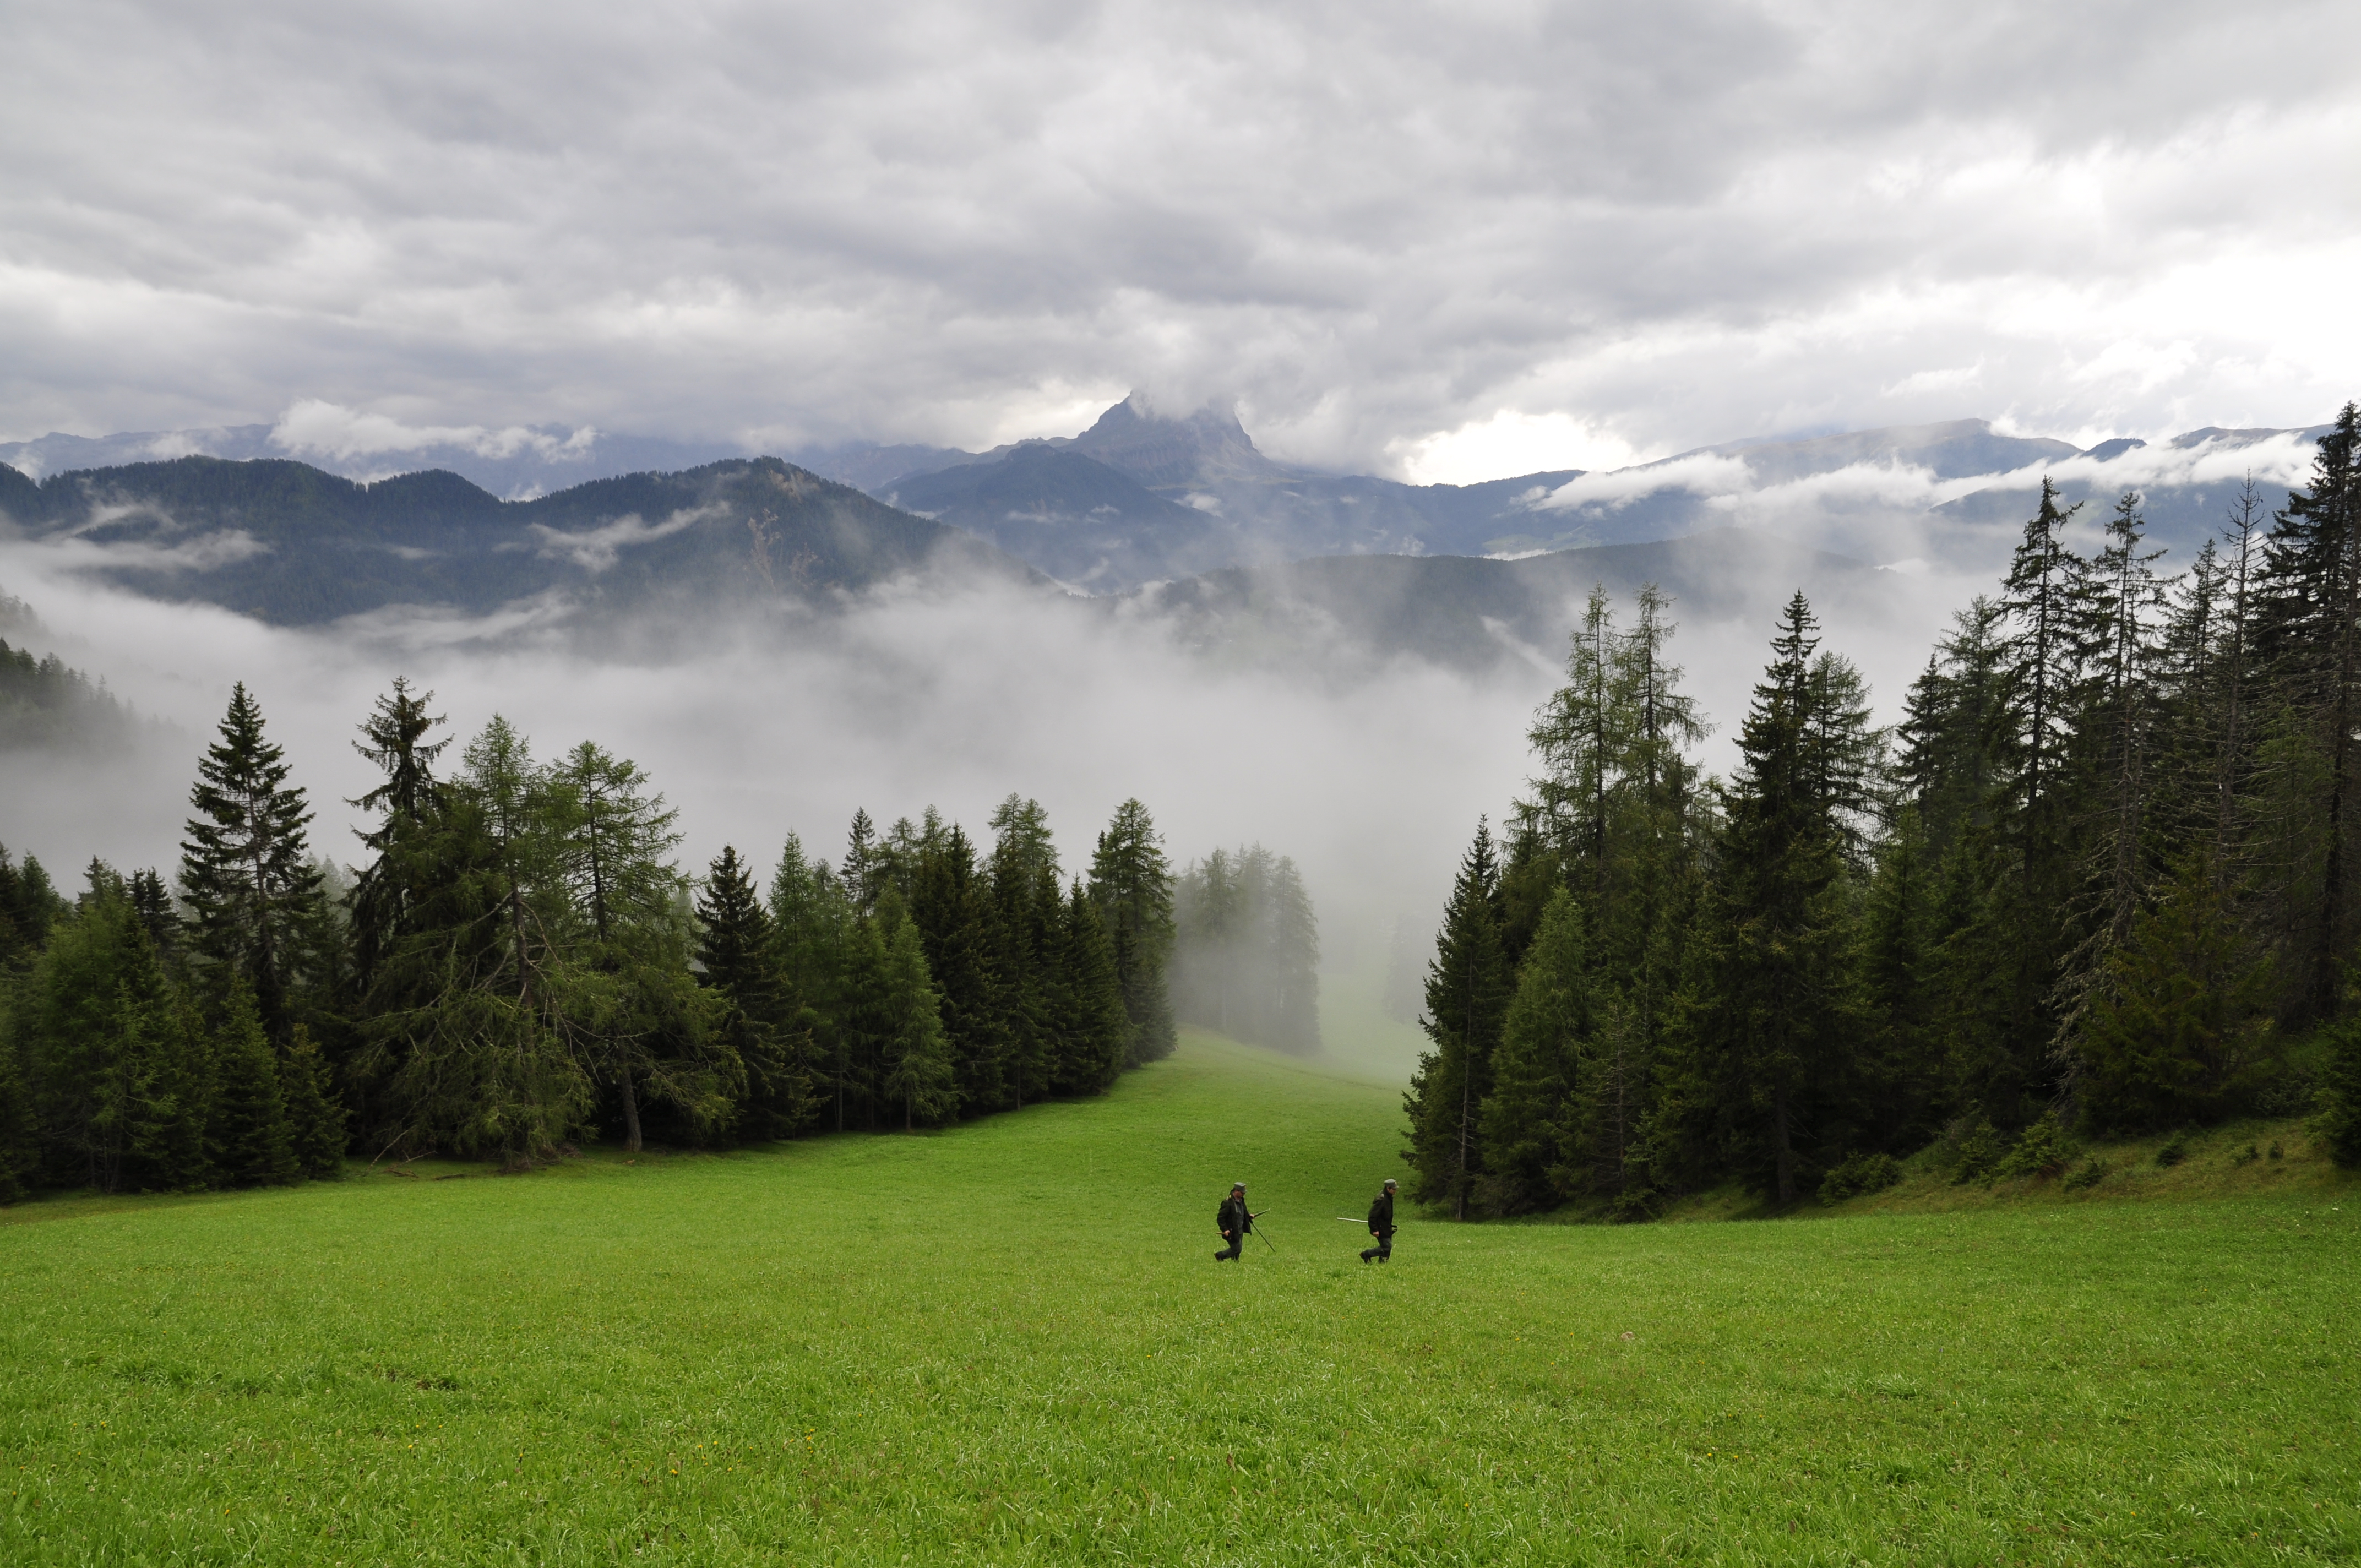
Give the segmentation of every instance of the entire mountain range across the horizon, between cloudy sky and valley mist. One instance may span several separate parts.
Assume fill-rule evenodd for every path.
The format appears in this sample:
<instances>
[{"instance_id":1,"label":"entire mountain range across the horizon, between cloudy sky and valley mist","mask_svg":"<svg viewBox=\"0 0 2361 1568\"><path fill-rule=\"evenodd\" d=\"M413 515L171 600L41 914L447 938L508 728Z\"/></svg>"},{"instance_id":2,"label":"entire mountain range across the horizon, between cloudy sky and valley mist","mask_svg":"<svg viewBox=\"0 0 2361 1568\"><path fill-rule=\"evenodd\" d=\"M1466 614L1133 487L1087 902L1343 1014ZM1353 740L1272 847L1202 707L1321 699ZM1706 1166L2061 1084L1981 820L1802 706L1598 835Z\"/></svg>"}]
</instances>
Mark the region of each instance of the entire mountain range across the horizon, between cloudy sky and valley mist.
<instances>
[{"instance_id":1,"label":"entire mountain range across the horizon, between cloudy sky and valley mist","mask_svg":"<svg viewBox=\"0 0 2361 1568\"><path fill-rule=\"evenodd\" d=\"M290 416L210 437L274 451L328 439L305 430ZM562 430L446 435L475 472L354 479L260 453L59 470L71 456L168 451L191 432L42 437L0 449L31 451L42 475L0 465L0 524L135 593L274 623L531 600L552 614L694 616L933 574L1093 593L1110 614L1162 619L1218 659L1350 649L1346 664L1410 652L1483 668L1532 649L1556 661L1594 581L1657 581L1683 616L1705 619L1768 619L1797 586L1825 612L1875 612L1894 579L1872 562L1988 571L2045 475L2089 501L2092 522L2118 489L2141 489L2153 536L2177 548L2170 569L2219 531L2245 468L2259 465L2267 505L2283 503L2319 427L2078 449L1953 420L1417 486L1277 463L1228 411L1173 418L1126 399L1077 437L982 453L848 446L673 472L654 472L656 460L508 501L482 477L531 489L569 463L701 449Z\"/></svg>"}]
</instances>

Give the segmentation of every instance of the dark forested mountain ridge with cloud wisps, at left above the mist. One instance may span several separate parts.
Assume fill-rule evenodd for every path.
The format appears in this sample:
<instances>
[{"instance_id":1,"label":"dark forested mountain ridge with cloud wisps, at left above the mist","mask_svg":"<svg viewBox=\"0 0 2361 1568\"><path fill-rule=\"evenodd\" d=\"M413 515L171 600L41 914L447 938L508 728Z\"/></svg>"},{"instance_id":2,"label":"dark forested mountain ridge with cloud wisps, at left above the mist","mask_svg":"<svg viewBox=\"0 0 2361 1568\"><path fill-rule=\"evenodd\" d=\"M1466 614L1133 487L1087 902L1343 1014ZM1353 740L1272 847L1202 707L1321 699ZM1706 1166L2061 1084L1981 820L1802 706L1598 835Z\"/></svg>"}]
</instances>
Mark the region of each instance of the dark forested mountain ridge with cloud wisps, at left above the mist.
<instances>
[{"instance_id":1,"label":"dark forested mountain ridge with cloud wisps, at left above the mist","mask_svg":"<svg viewBox=\"0 0 2361 1568\"><path fill-rule=\"evenodd\" d=\"M446 472L357 484L307 463L177 458L57 475L0 468L0 515L161 600L281 626L387 605L484 612L562 590L588 607L815 600L909 571L1039 581L959 529L777 458L498 501Z\"/></svg>"}]
</instances>

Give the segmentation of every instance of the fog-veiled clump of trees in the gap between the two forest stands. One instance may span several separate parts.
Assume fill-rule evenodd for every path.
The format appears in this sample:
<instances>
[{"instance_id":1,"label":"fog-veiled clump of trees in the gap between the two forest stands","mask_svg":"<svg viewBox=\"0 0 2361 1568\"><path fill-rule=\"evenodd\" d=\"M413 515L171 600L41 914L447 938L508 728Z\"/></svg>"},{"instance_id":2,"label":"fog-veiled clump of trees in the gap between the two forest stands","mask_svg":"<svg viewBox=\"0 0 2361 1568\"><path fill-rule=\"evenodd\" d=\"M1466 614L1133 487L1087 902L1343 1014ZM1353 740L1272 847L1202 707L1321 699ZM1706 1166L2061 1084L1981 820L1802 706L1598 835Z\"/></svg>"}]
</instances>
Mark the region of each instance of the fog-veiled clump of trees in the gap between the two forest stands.
<instances>
[{"instance_id":1,"label":"fog-veiled clump of trees in the gap between the two forest stands","mask_svg":"<svg viewBox=\"0 0 2361 1568\"><path fill-rule=\"evenodd\" d=\"M1320 1051L1320 923L1287 855L1214 850L1173 888L1173 1013L1232 1039Z\"/></svg>"}]
</instances>

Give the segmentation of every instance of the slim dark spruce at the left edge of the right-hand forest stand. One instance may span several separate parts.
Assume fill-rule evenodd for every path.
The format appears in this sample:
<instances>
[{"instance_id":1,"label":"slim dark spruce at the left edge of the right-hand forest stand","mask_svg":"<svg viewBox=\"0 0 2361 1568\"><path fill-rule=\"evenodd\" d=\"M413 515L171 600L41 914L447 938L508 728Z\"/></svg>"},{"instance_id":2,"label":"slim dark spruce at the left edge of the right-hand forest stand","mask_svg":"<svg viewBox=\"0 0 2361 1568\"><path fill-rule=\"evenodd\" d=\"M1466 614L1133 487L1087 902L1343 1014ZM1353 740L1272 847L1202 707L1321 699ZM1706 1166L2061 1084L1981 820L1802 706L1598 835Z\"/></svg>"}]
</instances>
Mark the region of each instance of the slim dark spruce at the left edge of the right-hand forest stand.
<instances>
[{"instance_id":1,"label":"slim dark spruce at the left edge of the right-hand forest stand","mask_svg":"<svg viewBox=\"0 0 2361 1568\"><path fill-rule=\"evenodd\" d=\"M1419 1056L1402 1098L1410 1112L1410 1148L1402 1155L1412 1171L1410 1193L1419 1202L1452 1204L1454 1219L1466 1219L1485 1176L1480 1112L1492 1093L1492 1053L1509 1006L1497 895L1492 829L1478 822L1426 968L1419 1027L1435 1048Z\"/></svg>"}]
</instances>

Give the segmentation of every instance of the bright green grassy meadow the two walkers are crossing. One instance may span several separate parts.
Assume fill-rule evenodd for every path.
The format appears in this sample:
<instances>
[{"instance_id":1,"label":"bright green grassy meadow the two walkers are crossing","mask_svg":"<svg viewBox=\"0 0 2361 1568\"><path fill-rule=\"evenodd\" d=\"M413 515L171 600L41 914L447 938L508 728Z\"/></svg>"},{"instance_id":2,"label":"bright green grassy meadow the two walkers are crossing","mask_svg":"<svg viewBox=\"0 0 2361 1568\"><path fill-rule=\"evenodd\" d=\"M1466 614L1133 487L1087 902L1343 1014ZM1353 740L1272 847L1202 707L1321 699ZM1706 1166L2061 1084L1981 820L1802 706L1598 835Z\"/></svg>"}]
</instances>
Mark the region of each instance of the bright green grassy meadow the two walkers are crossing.
<instances>
[{"instance_id":1,"label":"bright green grassy meadow the two walkers are crossing","mask_svg":"<svg viewBox=\"0 0 2361 1568\"><path fill-rule=\"evenodd\" d=\"M2354 1204L1410 1223L1398 1089L0 1219L0 1561L2361 1554ZM1282 1252L1211 1263L1244 1176Z\"/></svg>"}]
</instances>

